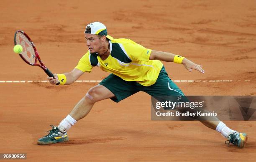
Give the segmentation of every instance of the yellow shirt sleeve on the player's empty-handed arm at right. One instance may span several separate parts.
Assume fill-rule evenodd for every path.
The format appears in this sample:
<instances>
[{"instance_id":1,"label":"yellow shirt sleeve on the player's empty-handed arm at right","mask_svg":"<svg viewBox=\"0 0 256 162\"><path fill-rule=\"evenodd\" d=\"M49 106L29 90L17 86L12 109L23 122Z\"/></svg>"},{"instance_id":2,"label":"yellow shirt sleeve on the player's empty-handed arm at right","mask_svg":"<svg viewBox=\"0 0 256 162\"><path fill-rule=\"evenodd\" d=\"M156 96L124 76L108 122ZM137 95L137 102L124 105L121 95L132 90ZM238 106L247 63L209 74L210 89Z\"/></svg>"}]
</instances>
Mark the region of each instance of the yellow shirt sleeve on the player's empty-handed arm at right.
<instances>
[{"instance_id":1,"label":"yellow shirt sleeve on the player's empty-handed arm at right","mask_svg":"<svg viewBox=\"0 0 256 162\"><path fill-rule=\"evenodd\" d=\"M125 45L125 50L132 61L149 61L151 49L145 48L131 40L131 43Z\"/></svg>"}]
</instances>

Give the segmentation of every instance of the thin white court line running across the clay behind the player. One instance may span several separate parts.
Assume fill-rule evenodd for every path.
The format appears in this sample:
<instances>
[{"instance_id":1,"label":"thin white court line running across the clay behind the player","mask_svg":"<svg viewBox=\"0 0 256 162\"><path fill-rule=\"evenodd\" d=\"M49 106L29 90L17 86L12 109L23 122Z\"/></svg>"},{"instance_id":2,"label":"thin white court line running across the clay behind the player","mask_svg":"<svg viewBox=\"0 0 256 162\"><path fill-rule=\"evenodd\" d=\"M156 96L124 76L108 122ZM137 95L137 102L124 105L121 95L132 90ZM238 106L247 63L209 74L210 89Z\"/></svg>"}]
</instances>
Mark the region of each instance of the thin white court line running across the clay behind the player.
<instances>
[{"instance_id":1,"label":"thin white court line running across the clay behind the player","mask_svg":"<svg viewBox=\"0 0 256 162\"><path fill-rule=\"evenodd\" d=\"M251 80L173 80L173 82L234 82L234 81L251 81ZM48 83L49 81L0 81L0 83ZM77 80L77 83L81 82L101 82L101 80Z\"/></svg>"}]
</instances>

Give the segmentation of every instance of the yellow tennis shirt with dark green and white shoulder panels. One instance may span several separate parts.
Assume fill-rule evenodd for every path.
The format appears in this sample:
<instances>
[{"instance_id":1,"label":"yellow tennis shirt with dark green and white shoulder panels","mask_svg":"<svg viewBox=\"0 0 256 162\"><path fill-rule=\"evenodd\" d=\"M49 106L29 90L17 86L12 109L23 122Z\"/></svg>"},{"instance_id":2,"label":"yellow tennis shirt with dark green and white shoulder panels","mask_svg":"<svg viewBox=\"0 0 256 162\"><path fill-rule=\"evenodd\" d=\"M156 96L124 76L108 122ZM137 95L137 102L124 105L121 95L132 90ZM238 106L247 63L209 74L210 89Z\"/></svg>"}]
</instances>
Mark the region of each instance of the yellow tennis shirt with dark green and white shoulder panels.
<instances>
[{"instance_id":1,"label":"yellow tennis shirt with dark green and white shoulder panels","mask_svg":"<svg viewBox=\"0 0 256 162\"><path fill-rule=\"evenodd\" d=\"M136 81L143 86L156 82L163 66L161 61L149 60L151 49L147 49L129 39L109 40L110 55L102 60L97 53L88 50L75 68L91 72L94 66L119 76L125 81Z\"/></svg>"}]
</instances>

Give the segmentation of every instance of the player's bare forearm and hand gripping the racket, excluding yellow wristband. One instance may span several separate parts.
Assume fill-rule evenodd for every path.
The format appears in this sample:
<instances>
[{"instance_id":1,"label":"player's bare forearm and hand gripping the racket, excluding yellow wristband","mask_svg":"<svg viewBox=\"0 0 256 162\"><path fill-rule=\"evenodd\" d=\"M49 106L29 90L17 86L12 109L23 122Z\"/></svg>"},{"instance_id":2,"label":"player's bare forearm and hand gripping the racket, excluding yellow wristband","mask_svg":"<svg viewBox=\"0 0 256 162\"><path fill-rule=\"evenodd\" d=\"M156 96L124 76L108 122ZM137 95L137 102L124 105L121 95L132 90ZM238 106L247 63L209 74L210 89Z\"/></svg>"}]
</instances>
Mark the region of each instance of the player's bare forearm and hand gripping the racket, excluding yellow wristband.
<instances>
[{"instance_id":1,"label":"player's bare forearm and hand gripping the racket, excluding yellow wristband","mask_svg":"<svg viewBox=\"0 0 256 162\"><path fill-rule=\"evenodd\" d=\"M56 74L54 73L54 78L52 77L47 77L48 81L51 84L57 84L59 81L61 81L61 79L59 79L60 75L64 75L66 81L65 81L65 85L69 85L74 83L74 81L76 81L84 72L82 72L81 70L74 68L71 72L68 73L63 73L63 74Z\"/></svg>"}]
</instances>

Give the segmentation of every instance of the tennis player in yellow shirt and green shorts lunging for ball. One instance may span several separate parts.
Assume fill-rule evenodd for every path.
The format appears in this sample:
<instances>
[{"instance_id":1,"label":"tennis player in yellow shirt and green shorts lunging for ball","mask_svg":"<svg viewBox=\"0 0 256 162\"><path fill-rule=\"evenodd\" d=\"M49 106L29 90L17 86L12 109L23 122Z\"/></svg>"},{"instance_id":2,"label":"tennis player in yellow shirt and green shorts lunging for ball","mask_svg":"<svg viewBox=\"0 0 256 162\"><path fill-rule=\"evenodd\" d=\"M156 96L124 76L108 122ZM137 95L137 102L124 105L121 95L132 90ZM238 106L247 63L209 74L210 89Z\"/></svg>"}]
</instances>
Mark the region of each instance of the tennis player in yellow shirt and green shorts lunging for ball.
<instances>
[{"instance_id":1,"label":"tennis player in yellow shirt and green shorts lunging for ball","mask_svg":"<svg viewBox=\"0 0 256 162\"><path fill-rule=\"evenodd\" d=\"M154 51L129 39L114 39L108 35L106 26L100 22L88 24L84 37L89 50L82 56L77 66L71 72L54 74L54 78L48 77L49 82L51 84L60 82L61 85L72 84L84 72L91 72L95 66L110 72L110 75L87 91L58 127L51 126L49 134L38 139L40 145L68 141L67 131L84 118L96 102L103 99L119 102L138 91L144 91L151 96L184 96L169 78L161 61L179 63L188 71L195 69L205 73L201 65L182 56ZM226 144L244 147L247 140L246 133L230 129L215 116L209 116L206 121L200 122L220 132L227 138Z\"/></svg>"}]
</instances>

